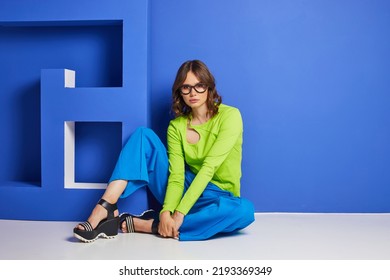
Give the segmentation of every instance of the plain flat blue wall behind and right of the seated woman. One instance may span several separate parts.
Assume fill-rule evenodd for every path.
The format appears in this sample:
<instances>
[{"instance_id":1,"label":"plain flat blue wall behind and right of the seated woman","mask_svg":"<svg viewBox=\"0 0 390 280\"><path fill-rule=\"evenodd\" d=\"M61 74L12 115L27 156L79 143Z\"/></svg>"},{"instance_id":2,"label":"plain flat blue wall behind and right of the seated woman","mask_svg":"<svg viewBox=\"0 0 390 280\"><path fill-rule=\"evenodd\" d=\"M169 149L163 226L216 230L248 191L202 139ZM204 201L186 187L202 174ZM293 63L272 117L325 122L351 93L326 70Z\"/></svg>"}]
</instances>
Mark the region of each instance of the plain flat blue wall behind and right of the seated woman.
<instances>
[{"instance_id":1,"label":"plain flat blue wall behind and right of the seated woman","mask_svg":"<svg viewBox=\"0 0 390 280\"><path fill-rule=\"evenodd\" d=\"M389 1L153 1L151 25L153 126L204 60L241 109L257 211L390 211Z\"/></svg>"}]
</instances>

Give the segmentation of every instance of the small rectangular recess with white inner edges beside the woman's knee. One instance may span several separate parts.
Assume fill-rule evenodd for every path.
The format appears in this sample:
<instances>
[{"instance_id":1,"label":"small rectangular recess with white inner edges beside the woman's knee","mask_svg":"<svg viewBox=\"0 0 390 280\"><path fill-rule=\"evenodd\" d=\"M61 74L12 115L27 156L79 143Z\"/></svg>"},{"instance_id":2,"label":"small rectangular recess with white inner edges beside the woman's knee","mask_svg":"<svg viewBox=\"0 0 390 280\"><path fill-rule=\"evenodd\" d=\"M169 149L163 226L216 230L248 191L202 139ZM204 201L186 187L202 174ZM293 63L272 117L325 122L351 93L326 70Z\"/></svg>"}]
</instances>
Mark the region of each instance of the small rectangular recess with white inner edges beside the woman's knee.
<instances>
[{"instance_id":1,"label":"small rectangular recess with white inner edges beside the woman's knee","mask_svg":"<svg viewBox=\"0 0 390 280\"><path fill-rule=\"evenodd\" d=\"M120 122L65 122L65 188L100 189L122 149Z\"/></svg>"}]
</instances>

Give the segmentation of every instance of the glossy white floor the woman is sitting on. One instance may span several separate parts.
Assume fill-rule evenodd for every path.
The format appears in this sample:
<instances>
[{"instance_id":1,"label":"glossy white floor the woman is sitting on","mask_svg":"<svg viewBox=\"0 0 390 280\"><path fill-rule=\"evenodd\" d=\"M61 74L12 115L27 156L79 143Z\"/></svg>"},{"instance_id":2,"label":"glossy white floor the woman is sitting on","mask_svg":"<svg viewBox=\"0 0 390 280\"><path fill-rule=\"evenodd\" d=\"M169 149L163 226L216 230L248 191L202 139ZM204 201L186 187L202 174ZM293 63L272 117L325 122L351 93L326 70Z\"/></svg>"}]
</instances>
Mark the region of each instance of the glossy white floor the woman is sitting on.
<instances>
[{"instance_id":1,"label":"glossy white floor the woman is sitting on","mask_svg":"<svg viewBox=\"0 0 390 280\"><path fill-rule=\"evenodd\" d=\"M119 233L86 244L75 224L0 220L0 259L390 260L390 214L259 213L238 234L197 242Z\"/></svg>"}]
</instances>

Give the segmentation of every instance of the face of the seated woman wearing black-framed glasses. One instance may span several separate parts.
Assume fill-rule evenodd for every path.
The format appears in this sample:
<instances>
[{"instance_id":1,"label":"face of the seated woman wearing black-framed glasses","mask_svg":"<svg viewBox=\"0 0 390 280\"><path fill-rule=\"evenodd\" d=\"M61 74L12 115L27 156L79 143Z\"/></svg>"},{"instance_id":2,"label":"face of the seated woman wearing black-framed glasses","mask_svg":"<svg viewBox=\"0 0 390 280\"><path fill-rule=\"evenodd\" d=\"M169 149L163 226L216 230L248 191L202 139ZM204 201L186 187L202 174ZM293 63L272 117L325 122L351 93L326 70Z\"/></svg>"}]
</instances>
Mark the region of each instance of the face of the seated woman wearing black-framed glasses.
<instances>
[{"instance_id":1,"label":"face of the seated woman wearing black-framed glasses","mask_svg":"<svg viewBox=\"0 0 390 280\"><path fill-rule=\"evenodd\" d=\"M191 71L187 73L187 77L181 86L181 96L183 97L184 102L192 110L202 110L207 111L207 95L208 87L207 85L202 84L192 73ZM203 91L203 93L202 93ZM183 94L183 92L188 94Z\"/></svg>"}]
</instances>

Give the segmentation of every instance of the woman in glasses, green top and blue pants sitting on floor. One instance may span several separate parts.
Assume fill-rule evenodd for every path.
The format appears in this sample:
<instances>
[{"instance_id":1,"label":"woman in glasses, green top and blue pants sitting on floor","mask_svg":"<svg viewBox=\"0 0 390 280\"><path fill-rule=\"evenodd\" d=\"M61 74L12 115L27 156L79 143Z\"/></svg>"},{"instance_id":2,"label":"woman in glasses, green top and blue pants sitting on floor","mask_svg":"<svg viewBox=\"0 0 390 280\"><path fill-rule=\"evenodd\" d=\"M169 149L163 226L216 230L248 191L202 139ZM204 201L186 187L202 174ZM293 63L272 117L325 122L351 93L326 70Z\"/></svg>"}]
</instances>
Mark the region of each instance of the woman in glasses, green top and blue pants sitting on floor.
<instances>
[{"instance_id":1,"label":"woman in glasses, green top and blue pants sitting on floor","mask_svg":"<svg viewBox=\"0 0 390 280\"><path fill-rule=\"evenodd\" d=\"M139 128L124 146L102 199L74 229L92 242L122 232L179 240L204 240L254 221L251 202L240 198L242 132L238 109L222 104L207 66L187 61L172 87L176 115L168 127L168 152L150 129ZM162 210L119 215L117 200L147 186Z\"/></svg>"}]
</instances>

